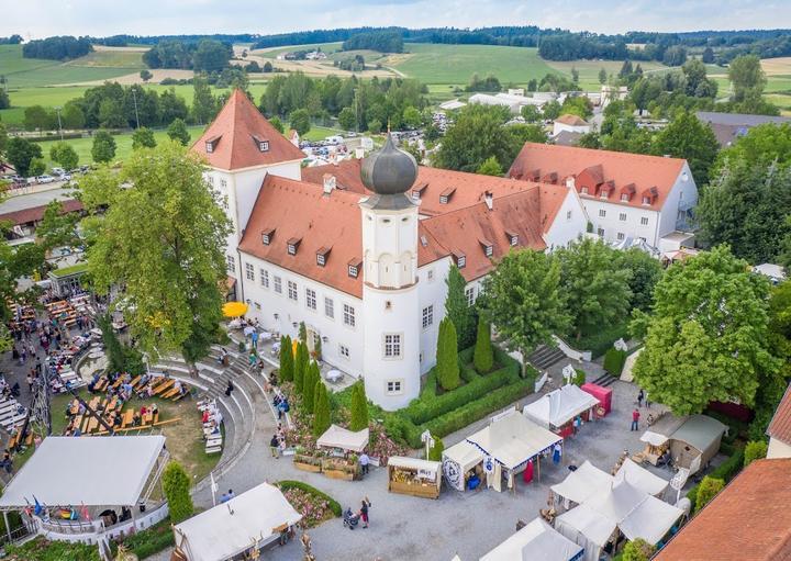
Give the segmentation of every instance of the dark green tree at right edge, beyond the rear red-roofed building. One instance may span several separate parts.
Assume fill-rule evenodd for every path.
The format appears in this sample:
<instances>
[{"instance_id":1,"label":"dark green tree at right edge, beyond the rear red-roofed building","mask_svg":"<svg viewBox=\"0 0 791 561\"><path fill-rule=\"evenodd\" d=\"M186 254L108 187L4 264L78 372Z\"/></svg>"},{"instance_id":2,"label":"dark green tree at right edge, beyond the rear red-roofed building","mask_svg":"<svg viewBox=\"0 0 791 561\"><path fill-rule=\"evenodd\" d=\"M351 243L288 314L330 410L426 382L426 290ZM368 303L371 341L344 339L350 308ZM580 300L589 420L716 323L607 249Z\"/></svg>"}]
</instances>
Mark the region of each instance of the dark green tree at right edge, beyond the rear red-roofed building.
<instances>
[{"instance_id":1,"label":"dark green tree at right edge, beyond the rear red-roofed building","mask_svg":"<svg viewBox=\"0 0 791 561\"><path fill-rule=\"evenodd\" d=\"M791 170L762 159L728 159L695 210L700 239L728 244L735 256L775 262L791 235Z\"/></svg>"}]
</instances>

